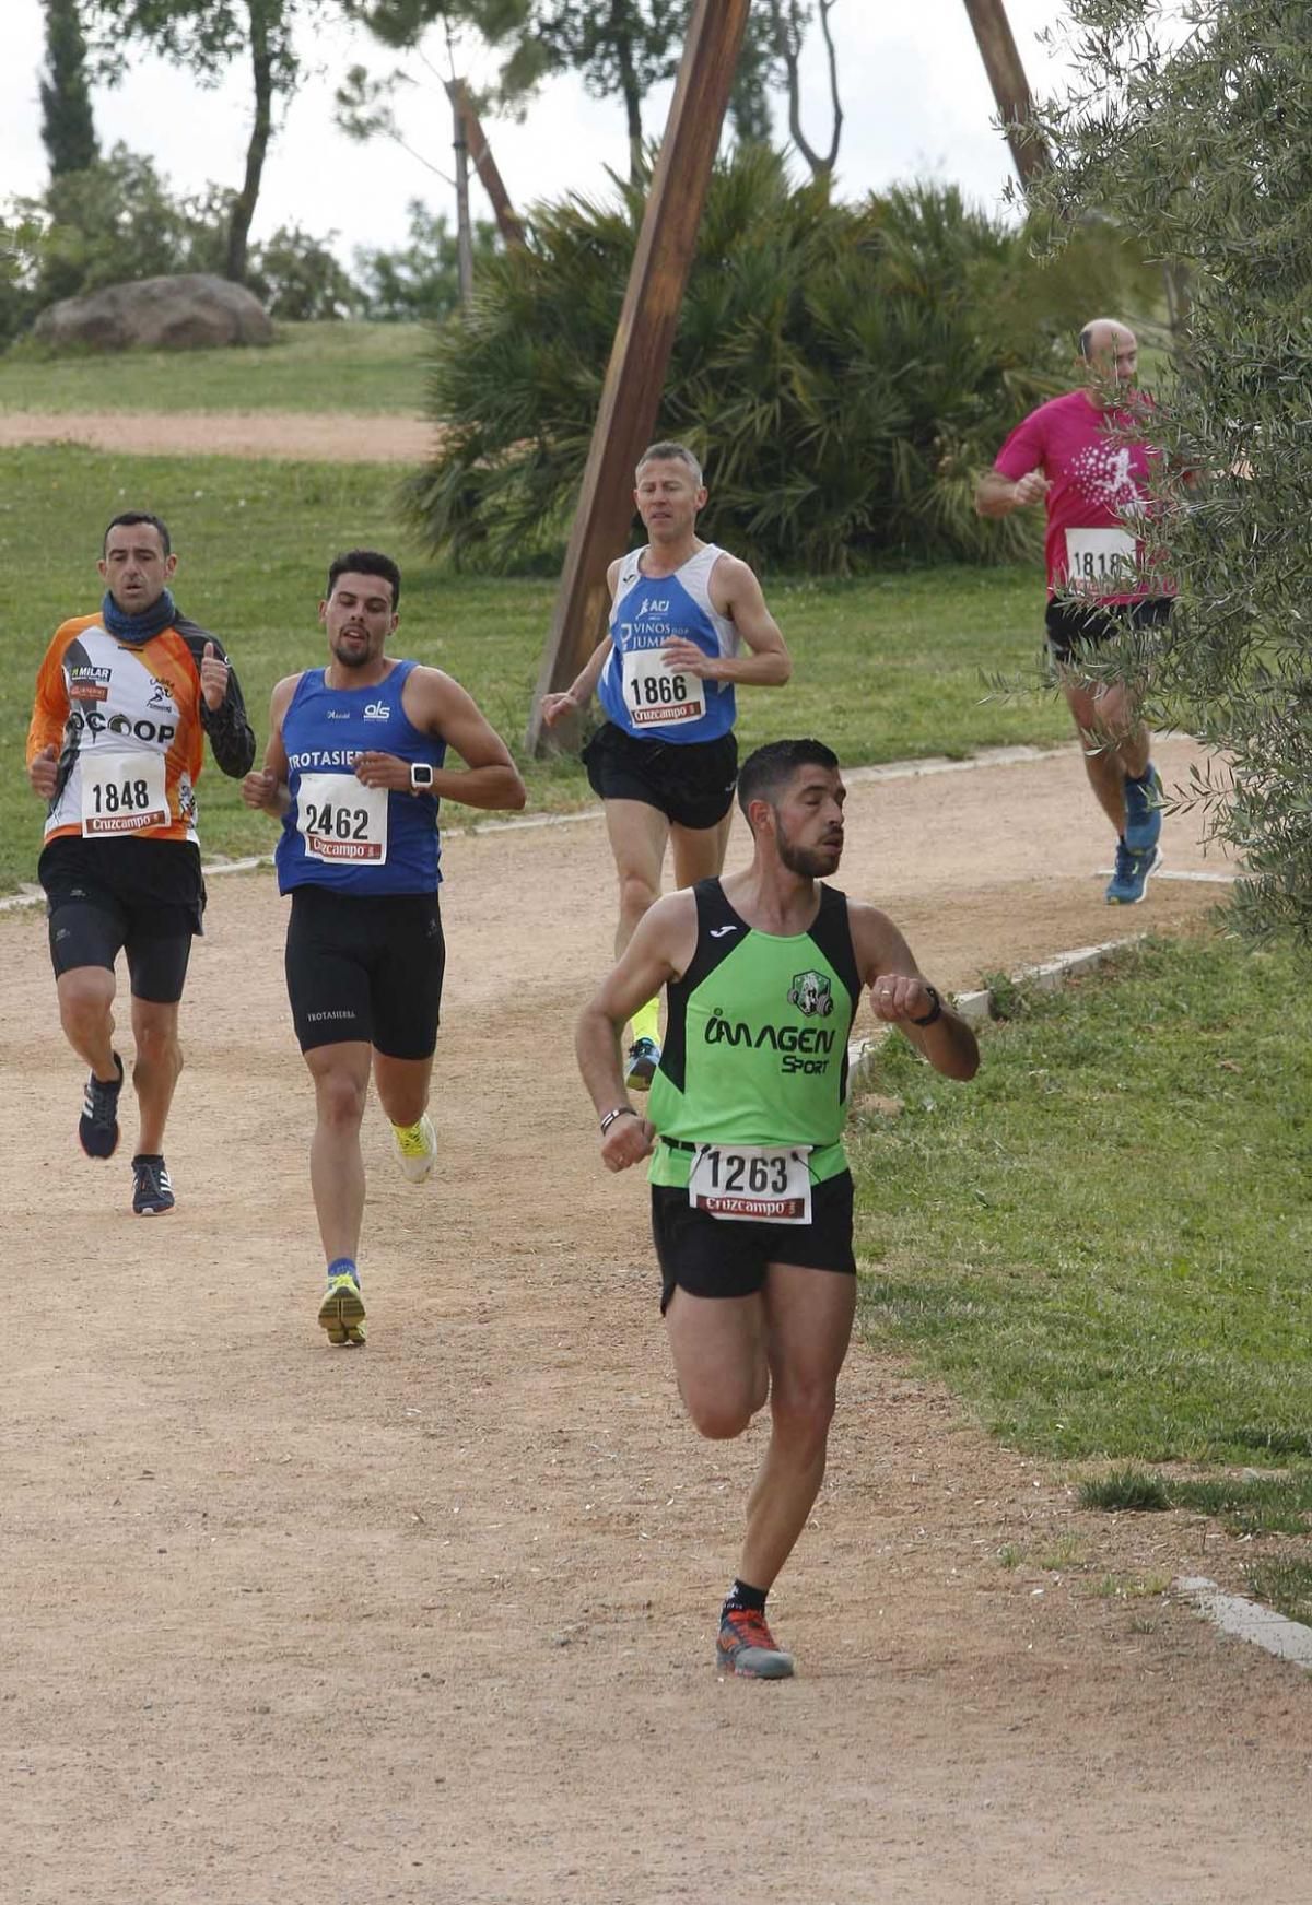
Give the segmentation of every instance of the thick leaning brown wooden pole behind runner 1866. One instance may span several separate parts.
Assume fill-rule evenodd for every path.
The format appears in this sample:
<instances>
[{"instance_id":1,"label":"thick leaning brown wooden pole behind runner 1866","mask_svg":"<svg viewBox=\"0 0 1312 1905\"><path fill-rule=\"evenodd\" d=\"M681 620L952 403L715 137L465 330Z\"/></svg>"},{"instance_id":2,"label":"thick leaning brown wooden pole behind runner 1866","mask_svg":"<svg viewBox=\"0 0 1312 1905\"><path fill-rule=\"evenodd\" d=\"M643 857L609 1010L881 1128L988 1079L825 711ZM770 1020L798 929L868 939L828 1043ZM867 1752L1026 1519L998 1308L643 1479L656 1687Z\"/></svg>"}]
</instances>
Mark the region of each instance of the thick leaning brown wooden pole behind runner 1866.
<instances>
[{"instance_id":1,"label":"thick leaning brown wooden pole behind runner 1866","mask_svg":"<svg viewBox=\"0 0 1312 1905\"><path fill-rule=\"evenodd\" d=\"M696 0L692 10L528 716L532 752L543 737L542 697L570 686L605 629L606 564L633 522L633 467L660 411L748 11L749 0ZM578 732L559 737L578 745Z\"/></svg>"}]
</instances>

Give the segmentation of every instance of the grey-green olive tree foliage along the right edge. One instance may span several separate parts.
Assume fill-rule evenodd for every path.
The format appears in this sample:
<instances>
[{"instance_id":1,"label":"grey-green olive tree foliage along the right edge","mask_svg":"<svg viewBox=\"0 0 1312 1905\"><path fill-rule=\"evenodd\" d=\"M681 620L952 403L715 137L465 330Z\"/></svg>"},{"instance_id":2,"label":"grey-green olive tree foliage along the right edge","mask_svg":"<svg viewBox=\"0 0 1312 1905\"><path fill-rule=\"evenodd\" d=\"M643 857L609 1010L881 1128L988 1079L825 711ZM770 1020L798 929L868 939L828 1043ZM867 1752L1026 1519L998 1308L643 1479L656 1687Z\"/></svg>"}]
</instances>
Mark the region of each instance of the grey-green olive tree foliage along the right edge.
<instances>
[{"instance_id":1,"label":"grey-green olive tree foliage along the right edge","mask_svg":"<svg viewBox=\"0 0 1312 1905\"><path fill-rule=\"evenodd\" d=\"M1074 97L1041 114L1058 232L1114 206L1188 276L1150 432L1199 476L1163 499L1180 585L1121 657L1150 711L1224 751L1196 792L1249 867L1240 924L1312 947L1312 15L1304 0L1070 0Z\"/></svg>"}]
</instances>

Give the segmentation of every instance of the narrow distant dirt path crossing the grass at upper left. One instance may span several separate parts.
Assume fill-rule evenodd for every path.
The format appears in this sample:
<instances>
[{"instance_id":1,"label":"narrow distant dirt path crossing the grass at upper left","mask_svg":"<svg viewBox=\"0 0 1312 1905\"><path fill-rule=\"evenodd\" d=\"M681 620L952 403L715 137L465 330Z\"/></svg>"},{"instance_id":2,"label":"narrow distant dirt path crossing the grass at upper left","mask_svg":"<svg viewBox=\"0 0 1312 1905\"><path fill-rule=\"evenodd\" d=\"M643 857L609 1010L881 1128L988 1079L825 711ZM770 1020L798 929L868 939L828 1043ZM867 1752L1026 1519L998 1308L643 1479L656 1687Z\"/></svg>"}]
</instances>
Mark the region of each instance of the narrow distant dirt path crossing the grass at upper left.
<instances>
[{"instance_id":1,"label":"narrow distant dirt path crossing the grass at upper left","mask_svg":"<svg viewBox=\"0 0 1312 1905\"><path fill-rule=\"evenodd\" d=\"M84 444L141 457L273 457L313 463L421 463L433 425L421 417L307 415L299 410L80 411L0 410L0 450Z\"/></svg>"}]
</instances>

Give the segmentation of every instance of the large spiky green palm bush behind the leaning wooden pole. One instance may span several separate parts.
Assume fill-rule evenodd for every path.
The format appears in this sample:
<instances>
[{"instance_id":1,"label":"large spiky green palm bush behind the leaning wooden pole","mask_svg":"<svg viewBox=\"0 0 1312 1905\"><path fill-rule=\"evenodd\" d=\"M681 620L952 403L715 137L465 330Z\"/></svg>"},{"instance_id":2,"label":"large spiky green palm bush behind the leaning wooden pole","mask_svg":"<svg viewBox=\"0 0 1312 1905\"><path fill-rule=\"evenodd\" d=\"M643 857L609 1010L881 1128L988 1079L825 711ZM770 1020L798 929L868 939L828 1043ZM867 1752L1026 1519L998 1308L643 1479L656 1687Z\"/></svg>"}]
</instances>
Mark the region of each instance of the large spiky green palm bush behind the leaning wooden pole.
<instances>
[{"instance_id":1,"label":"large spiky green palm bush behind the leaning wooden pole","mask_svg":"<svg viewBox=\"0 0 1312 1905\"><path fill-rule=\"evenodd\" d=\"M444 434L412 490L433 549L557 560L645 206L616 189L538 208L528 248L435 331ZM1129 274L1110 227L1045 272L955 189L849 206L740 149L711 181L656 434L706 459L706 533L772 568L1015 558L1034 528L982 524L974 472Z\"/></svg>"}]
</instances>

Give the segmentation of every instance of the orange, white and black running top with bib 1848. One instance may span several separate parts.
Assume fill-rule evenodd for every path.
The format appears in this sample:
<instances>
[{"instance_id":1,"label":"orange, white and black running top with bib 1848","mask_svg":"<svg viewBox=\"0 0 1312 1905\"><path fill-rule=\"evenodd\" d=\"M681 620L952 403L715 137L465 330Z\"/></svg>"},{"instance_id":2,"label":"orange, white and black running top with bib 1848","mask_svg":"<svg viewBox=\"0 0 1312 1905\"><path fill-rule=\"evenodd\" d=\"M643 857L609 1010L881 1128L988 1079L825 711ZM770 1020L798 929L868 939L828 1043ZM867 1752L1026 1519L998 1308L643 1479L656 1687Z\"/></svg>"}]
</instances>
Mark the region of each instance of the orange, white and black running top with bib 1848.
<instances>
[{"instance_id":1,"label":"orange, white and black running top with bib 1848","mask_svg":"<svg viewBox=\"0 0 1312 1905\"><path fill-rule=\"evenodd\" d=\"M223 644L185 615L145 642L109 634L99 613L76 615L55 631L27 732L29 762L44 747L59 754L46 840L196 840L206 733L223 773L242 775L256 758L231 663L227 695L214 711L204 703L206 642L227 661Z\"/></svg>"}]
</instances>

